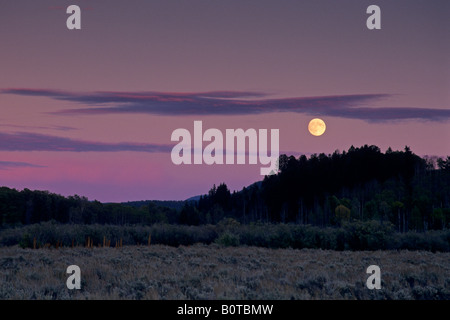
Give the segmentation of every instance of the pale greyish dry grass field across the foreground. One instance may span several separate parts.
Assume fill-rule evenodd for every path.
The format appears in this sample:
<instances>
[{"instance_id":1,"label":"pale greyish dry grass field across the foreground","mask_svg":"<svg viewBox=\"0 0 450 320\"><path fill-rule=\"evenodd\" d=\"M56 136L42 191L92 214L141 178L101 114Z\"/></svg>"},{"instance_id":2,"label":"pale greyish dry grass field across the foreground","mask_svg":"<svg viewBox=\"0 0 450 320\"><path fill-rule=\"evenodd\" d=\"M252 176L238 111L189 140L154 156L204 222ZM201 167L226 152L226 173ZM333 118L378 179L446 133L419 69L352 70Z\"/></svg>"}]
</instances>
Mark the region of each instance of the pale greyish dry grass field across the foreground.
<instances>
[{"instance_id":1,"label":"pale greyish dry grass field across the foreground","mask_svg":"<svg viewBox=\"0 0 450 320\"><path fill-rule=\"evenodd\" d=\"M450 299L449 262L424 251L15 246L0 248L0 299ZM72 264L81 290L66 287ZM381 290L365 286L371 264Z\"/></svg>"}]
</instances>

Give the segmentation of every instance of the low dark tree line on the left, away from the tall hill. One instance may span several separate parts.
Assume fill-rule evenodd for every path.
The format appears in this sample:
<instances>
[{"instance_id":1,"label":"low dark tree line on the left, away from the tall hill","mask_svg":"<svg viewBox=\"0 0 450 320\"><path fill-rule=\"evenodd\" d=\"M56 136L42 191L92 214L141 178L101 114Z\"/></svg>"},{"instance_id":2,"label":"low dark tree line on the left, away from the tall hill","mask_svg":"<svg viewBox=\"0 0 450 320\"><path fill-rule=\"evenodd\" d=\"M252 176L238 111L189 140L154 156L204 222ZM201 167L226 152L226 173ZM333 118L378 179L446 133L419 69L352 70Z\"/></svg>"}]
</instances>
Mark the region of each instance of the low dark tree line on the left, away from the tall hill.
<instances>
[{"instance_id":1,"label":"low dark tree line on the left, away from the tall hill","mask_svg":"<svg viewBox=\"0 0 450 320\"><path fill-rule=\"evenodd\" d=\"M64 197L48 191L0 188L0 227L56 221L69 224L178 223L179 210L160 201L145 204L101 203L74 195Z\"/></svg>"}]
</instances>

